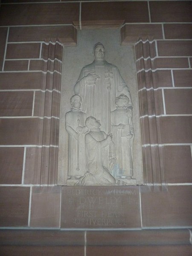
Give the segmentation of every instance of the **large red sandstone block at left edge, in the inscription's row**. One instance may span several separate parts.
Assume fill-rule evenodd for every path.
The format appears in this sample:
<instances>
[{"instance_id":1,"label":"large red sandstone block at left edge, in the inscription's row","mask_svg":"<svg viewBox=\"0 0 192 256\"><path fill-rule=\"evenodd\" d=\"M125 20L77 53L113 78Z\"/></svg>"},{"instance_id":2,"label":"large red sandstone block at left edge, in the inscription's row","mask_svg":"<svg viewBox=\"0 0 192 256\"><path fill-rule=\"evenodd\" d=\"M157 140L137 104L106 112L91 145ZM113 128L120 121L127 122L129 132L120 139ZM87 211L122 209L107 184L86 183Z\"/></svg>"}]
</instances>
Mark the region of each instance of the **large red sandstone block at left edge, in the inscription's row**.
<instances>
[{"instance_id":1,"label":"large red sandstone block at left edge, in the inscription's row","mask_svg":"<svg viewBox=\"0 0 192 256\"><path fill-rule=\"evenodd\" d=\"M27 227L29 214L29 187L0 187L0 226Z\"/></svg>"}]
</instances>

